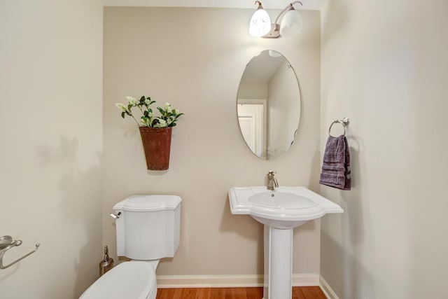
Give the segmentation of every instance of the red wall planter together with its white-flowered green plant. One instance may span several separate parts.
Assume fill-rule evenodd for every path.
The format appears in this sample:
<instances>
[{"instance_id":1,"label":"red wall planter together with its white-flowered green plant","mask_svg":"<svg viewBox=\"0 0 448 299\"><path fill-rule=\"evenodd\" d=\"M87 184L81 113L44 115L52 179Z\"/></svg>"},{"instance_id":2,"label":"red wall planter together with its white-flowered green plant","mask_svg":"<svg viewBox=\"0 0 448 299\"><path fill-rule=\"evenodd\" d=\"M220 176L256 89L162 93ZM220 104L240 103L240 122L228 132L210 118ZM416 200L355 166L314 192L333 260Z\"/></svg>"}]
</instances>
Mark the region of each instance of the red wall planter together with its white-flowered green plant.
<instances>
[{"instance_id":1,"label":"red wall planter together with its white-flowered green plant","mask_svg":"<svg viewBox=\"0 0 448 299\"><path fill-rule=\"evenodd\" d=\"M151 109L155 101L151 100L151 97L142 96L140 100L137 100L128 96L126 99L127 105L116 103L116 106L120 109L122 118L131 116L139 126L147 168L168 169L172 127L176 125L176 121L179 116L183 116L183 113L180 113L178 109L172 109L171 104L167 102L163 107L157 107L160 116L155 116ZM132 113L133 108L141 112L140 123Z\"/></svg>"}]
</instances>

